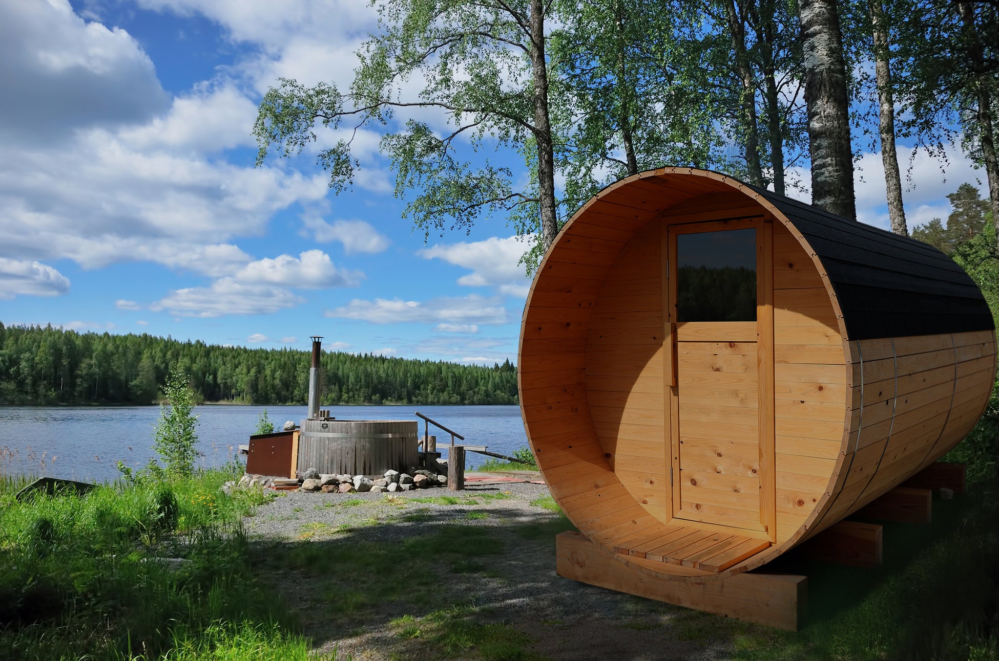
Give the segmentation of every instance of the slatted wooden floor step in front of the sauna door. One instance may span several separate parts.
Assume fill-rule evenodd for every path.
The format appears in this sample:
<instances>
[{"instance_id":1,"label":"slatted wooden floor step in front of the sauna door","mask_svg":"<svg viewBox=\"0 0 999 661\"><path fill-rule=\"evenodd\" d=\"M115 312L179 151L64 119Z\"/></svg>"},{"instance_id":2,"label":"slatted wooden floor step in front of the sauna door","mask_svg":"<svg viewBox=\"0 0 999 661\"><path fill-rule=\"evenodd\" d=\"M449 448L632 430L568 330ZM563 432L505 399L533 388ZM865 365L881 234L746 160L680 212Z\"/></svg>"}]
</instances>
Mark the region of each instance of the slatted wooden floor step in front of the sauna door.
<instances>
[{"instance_id":1,"label":"slatted wooden floor step in front of the sauna door","mask_svg":"<svg viewBox=\"0 0 999 661\"><path fill-rule=\"evenodd\" d=\"M719 572L769 545L766 539L688 525L659 524L646 528L641 534L632 533L617 540L613 549L621 555Z\"/></svg>"}]
</instances>

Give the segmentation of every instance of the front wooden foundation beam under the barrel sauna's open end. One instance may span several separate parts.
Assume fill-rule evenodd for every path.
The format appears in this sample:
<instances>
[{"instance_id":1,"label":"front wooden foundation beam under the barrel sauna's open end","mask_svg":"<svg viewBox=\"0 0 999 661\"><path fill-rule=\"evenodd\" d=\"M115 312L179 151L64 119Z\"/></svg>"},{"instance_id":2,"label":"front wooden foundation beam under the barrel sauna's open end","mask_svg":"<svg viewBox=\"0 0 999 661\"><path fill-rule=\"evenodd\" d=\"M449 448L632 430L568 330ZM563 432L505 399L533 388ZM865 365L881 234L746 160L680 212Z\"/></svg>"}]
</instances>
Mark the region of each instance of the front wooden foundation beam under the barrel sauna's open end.
<instances>
[{"instance_id":1,"label":"front wooden foundation beam under the barrel sauna's open end","mask_svg":"<svg viewBox=\"0 0 999 661\"><path fill-rule=\"evenodd\" d=\"M581 583L787 631L804 624L805 576L744 572L703 582L669 580L639 570L574 531L555 536L555 560L559 576Z\"/></svg>"}]
</instances>

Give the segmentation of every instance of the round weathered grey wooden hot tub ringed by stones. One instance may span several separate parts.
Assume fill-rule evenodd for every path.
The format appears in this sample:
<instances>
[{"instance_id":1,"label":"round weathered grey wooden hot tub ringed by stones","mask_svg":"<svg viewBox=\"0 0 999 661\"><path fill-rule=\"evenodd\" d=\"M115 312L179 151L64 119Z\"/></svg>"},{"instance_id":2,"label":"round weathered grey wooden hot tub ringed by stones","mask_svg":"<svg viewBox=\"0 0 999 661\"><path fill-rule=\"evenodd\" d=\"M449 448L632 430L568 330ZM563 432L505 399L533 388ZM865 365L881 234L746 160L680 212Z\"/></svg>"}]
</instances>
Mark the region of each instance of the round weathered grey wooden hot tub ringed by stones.
<instances>
[{"instance_id":1,"label":"round weathered grey wooden hot tub ringed by stones","mask_svg":"<svg viewBox=\"0 0 999 661\"><path fill-rule=\"evenodd\" d=\"M417 466L420 425L415 420L303 420L298 473L381 478L390 469Z\"/></svg>"}]
</instances>

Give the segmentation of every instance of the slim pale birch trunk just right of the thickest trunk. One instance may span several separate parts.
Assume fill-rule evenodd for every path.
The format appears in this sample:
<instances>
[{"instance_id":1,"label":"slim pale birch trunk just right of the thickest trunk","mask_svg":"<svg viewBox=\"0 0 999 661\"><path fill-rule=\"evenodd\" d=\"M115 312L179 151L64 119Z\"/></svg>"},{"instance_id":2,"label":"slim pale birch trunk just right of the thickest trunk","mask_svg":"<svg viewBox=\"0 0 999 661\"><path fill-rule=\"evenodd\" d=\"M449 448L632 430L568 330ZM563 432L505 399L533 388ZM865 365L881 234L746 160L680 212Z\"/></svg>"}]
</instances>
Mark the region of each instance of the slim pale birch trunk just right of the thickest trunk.
<instances>
[{"instance_id":1,"label":"slim pale birch trunk just right of the thickest trunk","mask_svg":"<svg viewBox=\"0 0 999 661\"><path fill-rule=\"evenodd\" d=\"M909 229L905 225L905 208L902 206L902 179L898 173L898 155L895 153L895 102L891 93L888 34L881 0L870 0L869 8L873 28L872 36L874 37L874 82L877 87L880 115L878 128L881 132L881 163L884 165L888 218L891 222L891 231L908 236Z\"/></svg>"}]
</instances>

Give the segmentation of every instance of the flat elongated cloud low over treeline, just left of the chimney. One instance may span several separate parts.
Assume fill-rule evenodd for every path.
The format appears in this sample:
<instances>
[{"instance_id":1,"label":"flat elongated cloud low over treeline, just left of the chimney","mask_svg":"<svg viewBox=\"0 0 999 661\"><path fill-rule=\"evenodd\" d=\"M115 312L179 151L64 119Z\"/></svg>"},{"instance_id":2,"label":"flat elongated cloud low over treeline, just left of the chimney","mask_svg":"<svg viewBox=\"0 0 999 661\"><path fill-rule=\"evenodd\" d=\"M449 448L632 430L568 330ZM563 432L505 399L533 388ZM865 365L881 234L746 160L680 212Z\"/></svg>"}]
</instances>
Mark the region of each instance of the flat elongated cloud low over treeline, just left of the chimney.
<instances>
[{"instance_id":1,"label":"flat elongated cloud low over treeline, just left of the chimney","mask_svg":"<svg viewBox=\"0 0 999 661\"><path fill-rule=\"evenodd\" d=\"M229 314L271 314L304 302L288 289L272 285L243 284L231 277L209 287L188 287L170 292L150 306L178 317L221 317Z\"/></svg>"}]
</instances>

